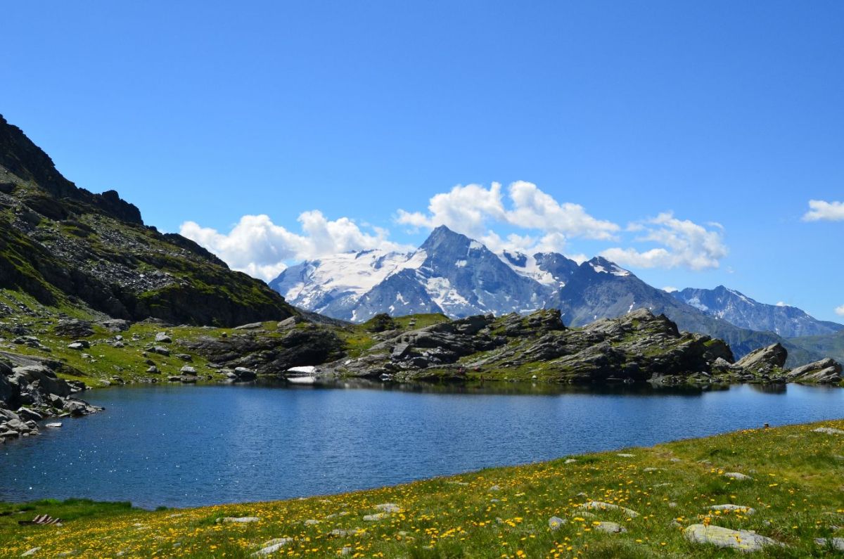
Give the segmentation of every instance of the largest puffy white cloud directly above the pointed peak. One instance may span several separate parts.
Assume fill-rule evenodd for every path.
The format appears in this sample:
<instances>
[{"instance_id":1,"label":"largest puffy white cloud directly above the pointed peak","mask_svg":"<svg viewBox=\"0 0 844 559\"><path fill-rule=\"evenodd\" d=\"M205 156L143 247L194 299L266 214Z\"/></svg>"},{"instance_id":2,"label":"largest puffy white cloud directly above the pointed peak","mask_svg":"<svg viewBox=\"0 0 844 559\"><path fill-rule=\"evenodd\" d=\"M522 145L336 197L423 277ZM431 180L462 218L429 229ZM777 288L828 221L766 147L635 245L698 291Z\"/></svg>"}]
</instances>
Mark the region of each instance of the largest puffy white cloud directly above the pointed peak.
<instances>
[{"instance_id":1,"label":"largest puffy white cloud directly above the pointed peak","mask_svg":"<svg viewBox=\"0 0 844 559\"><path fill-rule=\"evenodd\" d=\"M446 225L452 231L484 242L493 251L507 248L522 252L562 252L569 237L612 240L620 230L619 225L587 214L579 204L560 204L531 182L513 182L507 188L506 198L509 204L505 204L498 182L489 188L478 184L457 185L430 198L427 213L399 209L396 221L414 228ZM511 234L502 239L490 229L494 224L538 231L540 236Z\"/></svg>"}]
</instances>

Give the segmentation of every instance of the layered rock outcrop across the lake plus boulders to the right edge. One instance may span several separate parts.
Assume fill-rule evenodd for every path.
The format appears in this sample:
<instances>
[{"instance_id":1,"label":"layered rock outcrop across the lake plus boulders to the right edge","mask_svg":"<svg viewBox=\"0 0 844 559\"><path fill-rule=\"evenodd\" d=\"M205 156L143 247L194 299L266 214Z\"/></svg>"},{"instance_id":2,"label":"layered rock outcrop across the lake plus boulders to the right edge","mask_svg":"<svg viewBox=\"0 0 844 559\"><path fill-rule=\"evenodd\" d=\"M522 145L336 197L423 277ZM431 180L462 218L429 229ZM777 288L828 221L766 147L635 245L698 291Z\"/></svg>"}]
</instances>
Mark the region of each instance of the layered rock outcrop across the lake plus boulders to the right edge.
<instances>
[{"instance_id":1,"label":"layered rock outcrop across the lake plus boulders to the right edge","mask_svg":"<svg viewBox=\"0 0 844 559\"><path fill-rule=\"evenodd\" d=\"M565 328L557 310L384 328L362 355L327 363L318 374L397 382L841 383L841 365L831 359L788 370L787 350L775 344L735 361L722 340L680 332L647 309L583 328Z\"/></svg>"}]
</instances>

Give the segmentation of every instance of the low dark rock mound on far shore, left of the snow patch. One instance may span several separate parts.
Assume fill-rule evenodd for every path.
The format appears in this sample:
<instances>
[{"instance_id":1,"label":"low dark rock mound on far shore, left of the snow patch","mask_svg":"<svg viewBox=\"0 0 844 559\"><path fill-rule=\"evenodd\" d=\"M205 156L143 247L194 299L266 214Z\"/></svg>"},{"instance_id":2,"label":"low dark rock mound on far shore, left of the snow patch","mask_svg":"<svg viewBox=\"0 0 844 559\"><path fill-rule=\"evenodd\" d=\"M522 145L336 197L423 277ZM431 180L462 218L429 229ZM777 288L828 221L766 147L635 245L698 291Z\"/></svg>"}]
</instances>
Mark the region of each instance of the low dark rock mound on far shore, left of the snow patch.
<instances>
[{"instance_id":1,"label":"low dark rock mound on far shore, left of the snow patch","mask_svg":"<svg viewBox=\"0 0 844 559\"><path fill-rule=\"evenodd\" d=\"M343 355L337 334L323 328L289 330L280 337L235 334L204 336L182 345L230 369L244 367L262 375L279 375L293 366L319 365Z\"/></svg>"}]
</instances>

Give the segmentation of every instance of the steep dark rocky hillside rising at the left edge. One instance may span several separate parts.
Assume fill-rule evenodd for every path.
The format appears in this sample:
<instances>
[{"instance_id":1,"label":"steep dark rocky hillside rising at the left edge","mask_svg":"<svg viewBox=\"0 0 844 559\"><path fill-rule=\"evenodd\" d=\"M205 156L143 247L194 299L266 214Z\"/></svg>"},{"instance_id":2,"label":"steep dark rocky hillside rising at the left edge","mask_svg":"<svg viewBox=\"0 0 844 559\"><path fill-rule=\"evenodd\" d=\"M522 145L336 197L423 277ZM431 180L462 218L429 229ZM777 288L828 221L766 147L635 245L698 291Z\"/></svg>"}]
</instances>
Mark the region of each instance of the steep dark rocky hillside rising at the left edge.
<instances>
[{"instance_id":1,"label":"steep dark rocky hillside rising at the left edge","mask_svg":"<svg viewBox=\"0 0 844 559\"><path fill-rule=\"evenodd\" d=\"M116 192L76 187L0 117L0 318L57 312L235 326L295 310Z\"/></svg>"}]
</instances>

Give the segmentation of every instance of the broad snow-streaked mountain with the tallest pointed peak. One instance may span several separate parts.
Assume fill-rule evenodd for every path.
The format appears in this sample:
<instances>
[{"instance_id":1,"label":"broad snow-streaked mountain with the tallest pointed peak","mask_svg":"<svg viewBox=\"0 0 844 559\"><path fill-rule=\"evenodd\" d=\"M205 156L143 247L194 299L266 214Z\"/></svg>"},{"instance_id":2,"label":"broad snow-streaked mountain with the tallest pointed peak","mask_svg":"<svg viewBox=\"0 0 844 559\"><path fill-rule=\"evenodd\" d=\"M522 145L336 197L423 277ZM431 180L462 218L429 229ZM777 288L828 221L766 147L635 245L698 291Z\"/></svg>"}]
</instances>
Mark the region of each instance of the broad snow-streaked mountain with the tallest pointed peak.
<instances>
[{"instance_id":1,"label":"broad snow-streaked mountain with the tallest pointed peak","mask_svg":"<svg viewBox=\"0 0 844 559\"><path fill-rule=\"evenodd\" d=\"M496 255L441 226L417 251L344 252L291 266L270 286L297 307L354 322L379 312L466 317L543 308L576 267L555 253Z\"/></svg>"}]
</instances>

